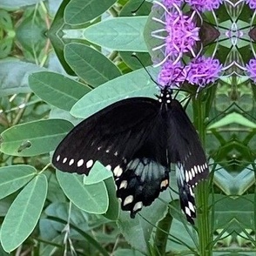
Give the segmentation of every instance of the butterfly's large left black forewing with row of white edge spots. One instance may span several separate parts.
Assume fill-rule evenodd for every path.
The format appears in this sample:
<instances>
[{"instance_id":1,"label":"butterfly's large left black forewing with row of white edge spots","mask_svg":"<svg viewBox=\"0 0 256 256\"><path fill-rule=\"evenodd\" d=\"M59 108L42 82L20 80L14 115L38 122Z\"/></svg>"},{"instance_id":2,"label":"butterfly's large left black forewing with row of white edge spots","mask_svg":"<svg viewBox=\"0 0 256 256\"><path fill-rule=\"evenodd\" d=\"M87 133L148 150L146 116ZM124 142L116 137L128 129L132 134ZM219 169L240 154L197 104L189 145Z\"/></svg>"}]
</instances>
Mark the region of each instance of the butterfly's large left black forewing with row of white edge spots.
<instances>
[{"instance_id":1,"label":"butterfly's large left black forewing with row of white edge spots","mask_svg":"<svg viewBox=\"0 0 256 256\"><path fill-rule=\"evenodd\" d=\"M99 160L113 170L143 144L158 107L152 98L131 98L111 104L73 128L57 146L52 163L64 172L88 174Z\"/></svg>"}]
</instances>

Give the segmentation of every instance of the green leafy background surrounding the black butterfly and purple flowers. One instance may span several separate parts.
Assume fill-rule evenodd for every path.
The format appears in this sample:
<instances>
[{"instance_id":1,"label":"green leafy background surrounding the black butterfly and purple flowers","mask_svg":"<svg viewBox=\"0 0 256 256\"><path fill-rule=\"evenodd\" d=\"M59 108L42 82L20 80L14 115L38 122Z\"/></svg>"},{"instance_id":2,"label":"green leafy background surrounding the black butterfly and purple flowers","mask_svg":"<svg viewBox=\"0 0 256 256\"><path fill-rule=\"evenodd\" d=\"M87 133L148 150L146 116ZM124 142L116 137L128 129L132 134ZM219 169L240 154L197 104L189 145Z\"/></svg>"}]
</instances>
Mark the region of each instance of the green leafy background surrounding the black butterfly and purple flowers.
<instances>
[{"instance_id":1,"label":"green leafy background surrounding the black butterfly and purple flowers","mask_svg":"<svg viewBox=\"0 0 256 256\"><path fill-rule=\"evenodd\" d=\"M210 219L206 243L185 222L175 192L162 193L131 220L119 212L113 180L99 163L88 179L50 165L51 152L81 118L127 96L158 93L131 57L138 52L157 77L148 54L156 44L148 32L155 25L148 17L152 3L132 16L140 3L1 1L1 255L255 254L256 90L239 71L220 77L186 107L212 171L204 188L209 207L199 214ZM250 10L242 6L238 13L246 27ZM229 28L228 8L217 14ZM211 14L204 18L216 22ZM216 40L205 52L218 49L223 64L233 56L246 64L254 45L240 40L236 46ZM177 190L174 172L171 187Z\"/></svg>"}]
</instances>

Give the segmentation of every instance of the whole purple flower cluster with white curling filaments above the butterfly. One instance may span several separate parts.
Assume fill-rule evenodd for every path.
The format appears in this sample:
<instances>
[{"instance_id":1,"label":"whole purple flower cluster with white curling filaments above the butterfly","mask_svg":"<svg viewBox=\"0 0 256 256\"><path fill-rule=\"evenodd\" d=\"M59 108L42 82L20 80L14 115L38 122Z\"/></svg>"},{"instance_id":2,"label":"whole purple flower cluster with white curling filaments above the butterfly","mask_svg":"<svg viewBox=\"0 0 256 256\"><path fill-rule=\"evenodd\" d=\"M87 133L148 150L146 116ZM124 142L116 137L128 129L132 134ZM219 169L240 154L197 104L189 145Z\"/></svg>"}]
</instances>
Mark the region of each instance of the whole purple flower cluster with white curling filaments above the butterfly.
<instances>
[{"instance_id":1,"label":"whole purple flower cluster with white curling filaments above the butterfly","mask_svg":"<svg viewBox=\"0 0 256 256\"><path fill-rule=\"evenodd\" d=\"M165 10L165 15L159 20L154 18L165 28L156 30L152 37L164 39L165 43L154 48L153 51L165 48L165 58L159 64L161 71L158 74L159 86L177 87L185 81L189 84L205 87L206 84L215 82L222 71L222 64L212 57L199 57L194 50L199 39L199 27L197 26L197 11L213 10L219 8L222 0L186 0L194 11L190 15L183 14L180 6L182 1L163 0L157 3ZM195 11L197 10L197 11ZM158 35L160 33L160 35ZM165 35L165 36L163 36ZM192 61L186 66L182 66L181 57L189 53Z\"/></svg>"}]
</instances>

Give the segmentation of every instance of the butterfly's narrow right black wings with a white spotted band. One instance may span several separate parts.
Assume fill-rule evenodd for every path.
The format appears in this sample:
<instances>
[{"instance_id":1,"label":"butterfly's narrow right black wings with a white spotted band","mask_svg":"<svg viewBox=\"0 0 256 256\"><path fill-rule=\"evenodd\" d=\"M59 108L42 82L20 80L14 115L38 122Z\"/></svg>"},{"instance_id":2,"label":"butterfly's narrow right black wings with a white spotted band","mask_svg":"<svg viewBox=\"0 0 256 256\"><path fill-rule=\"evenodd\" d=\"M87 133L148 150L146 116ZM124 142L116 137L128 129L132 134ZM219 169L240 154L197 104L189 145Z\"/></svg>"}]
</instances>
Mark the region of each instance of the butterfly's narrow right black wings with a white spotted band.
<instances>
[{"instance_id":1,"label":"butterfly's narrow right black wings with a white spotted band","mask_svg":"<svg viewBox=\"0 0 256 256\"><path fill-rule=\"evenodd\" d=\"M172 99L168 111L168 153L172 163L177 163L176 173L179 199L186 219L196 217L193 187L209 173L205 152L199 136L179 101Z\"/></svg>"}]
</instances>

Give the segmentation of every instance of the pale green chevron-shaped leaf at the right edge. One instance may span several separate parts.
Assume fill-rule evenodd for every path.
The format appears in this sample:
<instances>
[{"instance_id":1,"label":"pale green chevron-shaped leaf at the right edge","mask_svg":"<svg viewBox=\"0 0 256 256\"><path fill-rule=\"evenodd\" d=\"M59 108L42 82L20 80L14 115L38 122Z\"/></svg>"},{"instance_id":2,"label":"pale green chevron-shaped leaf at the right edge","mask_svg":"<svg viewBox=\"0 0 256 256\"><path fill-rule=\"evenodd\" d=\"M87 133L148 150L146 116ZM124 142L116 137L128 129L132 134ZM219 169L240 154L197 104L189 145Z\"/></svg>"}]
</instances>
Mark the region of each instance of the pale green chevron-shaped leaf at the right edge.
<instances>
[{"instance_id":1,"label":"pale green chevron-shaped leaf at the right edge","mask_svg":"<svg viewBox=\"0 0 256 256\"><path fill-rule=\"evenodd\" d=\"M224 118L221 118L219 121L215 122L214 124L210 125L207 129L218 129L225 125L243 125L248 128L256 129L256 124L248 120L247 118L243 117L241 114L232 112L226 115Z\"/></svg>"}]
</instances>

